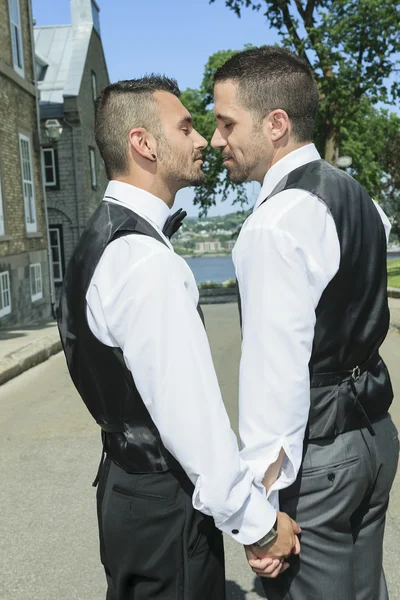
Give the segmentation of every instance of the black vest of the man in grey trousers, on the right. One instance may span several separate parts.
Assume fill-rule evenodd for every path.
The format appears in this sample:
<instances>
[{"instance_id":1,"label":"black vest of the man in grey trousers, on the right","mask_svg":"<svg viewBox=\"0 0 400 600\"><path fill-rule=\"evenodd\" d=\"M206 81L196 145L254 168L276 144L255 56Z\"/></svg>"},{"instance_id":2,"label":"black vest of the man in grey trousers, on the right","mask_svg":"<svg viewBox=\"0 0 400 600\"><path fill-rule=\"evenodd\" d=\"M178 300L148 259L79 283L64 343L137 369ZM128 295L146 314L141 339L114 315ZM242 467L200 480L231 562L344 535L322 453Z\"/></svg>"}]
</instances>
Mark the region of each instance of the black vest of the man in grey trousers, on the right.
<instances>
[{"instance_id":1,"label":"black vest of the man in grey trousers, on the right","mask_svg":"<svg viewBox=\"0 0 400 600\"><path fill-rule=\"evenodd\" d=\"M311 192L329 208L340 243L340 266L316 309L309 364L308 439L369 427L393 400L378 354L389 328L386 236L368 193L325 161L303 165L280 181L264 201L283 190Z\"/></svg>"}]
</instances>

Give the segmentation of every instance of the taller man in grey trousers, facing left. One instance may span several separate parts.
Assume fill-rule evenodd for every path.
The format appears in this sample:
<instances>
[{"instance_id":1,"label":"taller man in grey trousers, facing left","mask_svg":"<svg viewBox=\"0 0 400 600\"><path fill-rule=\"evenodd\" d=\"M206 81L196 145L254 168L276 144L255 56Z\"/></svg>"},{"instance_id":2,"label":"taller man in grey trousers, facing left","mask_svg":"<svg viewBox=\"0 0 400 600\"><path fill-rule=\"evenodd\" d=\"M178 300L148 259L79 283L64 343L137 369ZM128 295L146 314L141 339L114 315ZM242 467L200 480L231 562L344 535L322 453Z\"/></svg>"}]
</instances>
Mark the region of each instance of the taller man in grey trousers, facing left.
<instances>
[{"instance_id":1,"label":"taller man in grey trousers, facing left","mask_svg":"<svg viewBox=\"0 0 400 600\"><path fill-rule=\"evenodd\" d=\"M241 456L302 528L300 555L263 579L268 599L385 600L399 452L379 356L390 224L360 184L321 160L317 108L308 65L285 49L237 53L215 74L212 146L232 181L262 185L233 250ZM265 576L257 547L246 552Z\"/></svg>"}]
</instances>

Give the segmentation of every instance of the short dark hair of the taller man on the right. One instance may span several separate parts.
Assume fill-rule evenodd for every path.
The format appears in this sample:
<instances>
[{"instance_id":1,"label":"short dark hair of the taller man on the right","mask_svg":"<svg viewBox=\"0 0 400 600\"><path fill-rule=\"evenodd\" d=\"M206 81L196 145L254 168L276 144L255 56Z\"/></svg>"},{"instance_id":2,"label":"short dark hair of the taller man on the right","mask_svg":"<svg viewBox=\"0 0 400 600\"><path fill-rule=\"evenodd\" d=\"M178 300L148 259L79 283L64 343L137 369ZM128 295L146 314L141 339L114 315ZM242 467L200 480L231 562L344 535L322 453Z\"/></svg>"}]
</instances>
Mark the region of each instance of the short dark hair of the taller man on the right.
<instances>
[{"instance_id":1,"label":"short dark hair of the taller man on the right","mask_svg":"<svg viewBox=\"0 0 400 600\"><path fill-rule=\"evenodd\" d=\"M244 108L260 119L280 108L288 114L296 140L311 140L319 93L305 60L277 46L249 48L216 71L214 83L228 80L238 84Z\"/></svg>"}]
</instances>

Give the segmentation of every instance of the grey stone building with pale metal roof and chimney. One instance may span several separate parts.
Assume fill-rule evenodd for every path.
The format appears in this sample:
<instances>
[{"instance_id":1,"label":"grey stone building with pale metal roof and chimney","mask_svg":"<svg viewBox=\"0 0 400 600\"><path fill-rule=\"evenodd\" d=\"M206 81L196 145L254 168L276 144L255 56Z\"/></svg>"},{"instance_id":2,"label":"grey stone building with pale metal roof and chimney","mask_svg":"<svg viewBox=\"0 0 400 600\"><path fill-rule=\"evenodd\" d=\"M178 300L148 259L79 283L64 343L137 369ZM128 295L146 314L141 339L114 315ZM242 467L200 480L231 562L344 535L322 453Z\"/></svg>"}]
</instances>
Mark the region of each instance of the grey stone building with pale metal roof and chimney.
<instances>
[{"instance_id":1,"label":"grey stone building with pale metal roof and chimney","mask_svg":"<svg viewBox=\"0 0 400 600\"><path fill-rule=\"evenodd\" d=\"M71 25L35 27L45 185L54 282L108 180L94 139L95 99L109 78L95 0L70 0Z\"/></svg>"}]
</instances>

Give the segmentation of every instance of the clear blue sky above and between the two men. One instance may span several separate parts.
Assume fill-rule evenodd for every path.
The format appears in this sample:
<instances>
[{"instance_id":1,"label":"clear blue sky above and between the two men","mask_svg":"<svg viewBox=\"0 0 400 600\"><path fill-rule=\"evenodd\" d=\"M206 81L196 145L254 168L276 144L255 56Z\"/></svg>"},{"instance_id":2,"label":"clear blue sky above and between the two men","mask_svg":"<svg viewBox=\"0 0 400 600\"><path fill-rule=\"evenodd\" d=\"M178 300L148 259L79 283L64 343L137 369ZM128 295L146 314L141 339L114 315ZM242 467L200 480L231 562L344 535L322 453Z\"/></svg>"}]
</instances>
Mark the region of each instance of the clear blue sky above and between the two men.
<instances>
[{"instance_id":1,"label":"clear blue sky above and between the two men","mask_svg":"<svg viewBox=\"0 0 400 600\"><path fill-rule=\"evenodd\" d=\"M265 18L245 10L241 19L225 7L224 0L97 0L101 36L111 81L159 72L175 77L181 89L198 87L204 65L218 50L240 49L247 43L278 41ZM69 0L33 0L37 25L66 25L71 22ZM249 186L250 202L257 185ZM192 190L179 192L176 206L191 216ZM229 200L219 202L209 215L237 210Z\"/></svg>"}]
</instances>

